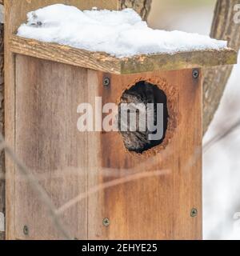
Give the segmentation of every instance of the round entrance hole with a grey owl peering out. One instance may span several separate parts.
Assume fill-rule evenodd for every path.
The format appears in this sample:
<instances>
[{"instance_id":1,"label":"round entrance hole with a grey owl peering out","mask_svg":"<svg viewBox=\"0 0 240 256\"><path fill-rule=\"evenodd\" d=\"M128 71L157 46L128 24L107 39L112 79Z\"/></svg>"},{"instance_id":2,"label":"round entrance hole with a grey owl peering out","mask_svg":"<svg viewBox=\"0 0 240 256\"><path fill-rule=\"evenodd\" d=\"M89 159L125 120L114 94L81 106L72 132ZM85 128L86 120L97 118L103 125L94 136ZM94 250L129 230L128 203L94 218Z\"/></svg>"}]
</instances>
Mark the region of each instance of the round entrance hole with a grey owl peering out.
<instances>
[{"instance_id":1,"label":"round entrance hole with a grey owl peering out","mask_svg":"<svg viewBox=\"0 0 240 256\"><path fill-rule=\"evenodd\" d=\"M168 117L166 94L158 86L140 81L126 90L118 105L118 130L126 149L142 154L160 145Z\"/></svg>"}]
</instances>

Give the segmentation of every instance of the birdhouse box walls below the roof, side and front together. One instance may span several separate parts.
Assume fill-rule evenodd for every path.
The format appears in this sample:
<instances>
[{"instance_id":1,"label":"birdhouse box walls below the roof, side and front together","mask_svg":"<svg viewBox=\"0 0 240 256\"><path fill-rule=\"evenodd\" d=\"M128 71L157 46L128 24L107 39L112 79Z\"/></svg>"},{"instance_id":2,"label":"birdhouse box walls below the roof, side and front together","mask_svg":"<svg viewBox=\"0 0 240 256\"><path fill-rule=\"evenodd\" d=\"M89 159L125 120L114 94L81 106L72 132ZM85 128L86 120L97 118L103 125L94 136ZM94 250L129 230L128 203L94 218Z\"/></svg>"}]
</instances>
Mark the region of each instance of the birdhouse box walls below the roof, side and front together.
<instances>
[{"instance_id":1,"label":"birdhouse box walls below the roof, side and front together","mask_svg":"<svg viewBox=\"0 0 240 256\"><path fill-rule=\"evenodd\" d=\"M201 238L202 84L196 71L198 78L191 69L111 75L16 56L16 154L72 238ZM94 117L102 111L107 122L106 104L119 106L132 91L143 102L165 104L166 130L156 145L135 132L98 131L95 118L94 130L79 131L81 104L93 106ZM62 238L19 172L15 184L15 238Z\"/></svg>"}]
</instances>

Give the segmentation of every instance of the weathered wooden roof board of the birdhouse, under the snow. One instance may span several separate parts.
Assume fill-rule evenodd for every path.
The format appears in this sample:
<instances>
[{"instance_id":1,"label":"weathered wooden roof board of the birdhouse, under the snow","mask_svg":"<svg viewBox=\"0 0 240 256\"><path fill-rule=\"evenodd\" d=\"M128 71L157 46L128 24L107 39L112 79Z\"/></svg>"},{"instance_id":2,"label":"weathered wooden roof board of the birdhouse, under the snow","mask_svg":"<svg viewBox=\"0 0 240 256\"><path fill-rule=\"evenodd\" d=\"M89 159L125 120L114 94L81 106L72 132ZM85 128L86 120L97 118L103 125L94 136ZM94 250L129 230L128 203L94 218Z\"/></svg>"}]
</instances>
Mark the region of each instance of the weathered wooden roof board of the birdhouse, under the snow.
<instances>
[{"instance_id":1,"label":"weathered wooden roof board of the birdhouse, under the snow","mask_svg":"<svg viewBox=\"0 0 240 256\"><path fill-rule=\"evenodd\" d=\"M231 49L198 50L177 54L142 54L131 58L114 58L110 54L91 52L62 46L55 43L39 42L13 35L10 50L37 58L82 66L111 74L134 74L154 70L181 70L202 66L218 66L237 62L237 53Z\"/></svg>"}]
</instances>

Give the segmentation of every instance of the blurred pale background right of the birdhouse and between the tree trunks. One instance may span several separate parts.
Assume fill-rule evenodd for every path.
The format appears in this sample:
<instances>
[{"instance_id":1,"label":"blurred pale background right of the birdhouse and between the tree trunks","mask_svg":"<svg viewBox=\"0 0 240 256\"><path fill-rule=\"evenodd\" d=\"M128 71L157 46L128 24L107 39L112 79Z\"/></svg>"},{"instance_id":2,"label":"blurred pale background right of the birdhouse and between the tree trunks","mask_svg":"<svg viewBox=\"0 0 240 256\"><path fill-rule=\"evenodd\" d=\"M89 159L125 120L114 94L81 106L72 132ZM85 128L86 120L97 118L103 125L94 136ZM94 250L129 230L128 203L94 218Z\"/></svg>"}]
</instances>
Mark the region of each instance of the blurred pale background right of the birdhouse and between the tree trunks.
<instances>
[{"instance_id":1,"label":"blurred pale background right of the birdhouse and between the tree trunks","mask_svg":"<svg viewBox=\"0 0 240 256\"><path fill-rule=\"evenodd\" d=\"M155 29L210 34L215 2L153 0L148 23ZM239 82L240 58L204 144L240 121ZM203 154L204 239L240 239L240 127L211 145Z\"/></svg>"}]
</instances>

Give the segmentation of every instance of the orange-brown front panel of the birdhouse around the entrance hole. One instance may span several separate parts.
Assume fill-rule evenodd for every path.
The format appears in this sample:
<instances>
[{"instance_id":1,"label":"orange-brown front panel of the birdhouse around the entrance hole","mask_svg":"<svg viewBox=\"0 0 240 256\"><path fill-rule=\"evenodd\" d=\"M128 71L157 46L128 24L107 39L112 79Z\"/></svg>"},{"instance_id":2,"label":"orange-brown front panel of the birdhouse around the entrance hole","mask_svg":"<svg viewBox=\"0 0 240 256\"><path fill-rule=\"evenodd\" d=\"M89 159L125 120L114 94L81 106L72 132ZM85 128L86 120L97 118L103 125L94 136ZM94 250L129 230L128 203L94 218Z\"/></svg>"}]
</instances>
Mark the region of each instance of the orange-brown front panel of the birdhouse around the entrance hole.
<instances>
[{"instance_id":1,"label":"orange-brown front panel of the birdhouse around the entrance hole","mask_svg":"<svg viewBox=\"0 0 240 256\"><path fill-rule=\"evenodd\" d=\"M122 178L123 182L89 198L89 215L98 216L91 218L94 230L90 229L89 238L202 239L202 77L194 80L192 70L112 75L111 86L102 87L104 75L99 74L102 104L117 102L122 91L140 79L158 83L160 88L165 83L170 88L168 106L174 107L170 118L177 114L177 123L167 131L173 134L166 136L170 139L164 148L143 154L127 152L116 132L101 134L98 161L108 171L92 170L97 178L91 186L118 184ZM130 175L156 170L160 171L157 177L128 182ZM101 200L96 205L97 198ZM190 217L192 208L198 209L196 218ZM103 218L110 218L109 227L100 226Z\"/></svg>"}]
</instances>

